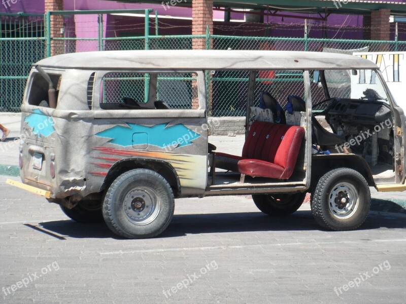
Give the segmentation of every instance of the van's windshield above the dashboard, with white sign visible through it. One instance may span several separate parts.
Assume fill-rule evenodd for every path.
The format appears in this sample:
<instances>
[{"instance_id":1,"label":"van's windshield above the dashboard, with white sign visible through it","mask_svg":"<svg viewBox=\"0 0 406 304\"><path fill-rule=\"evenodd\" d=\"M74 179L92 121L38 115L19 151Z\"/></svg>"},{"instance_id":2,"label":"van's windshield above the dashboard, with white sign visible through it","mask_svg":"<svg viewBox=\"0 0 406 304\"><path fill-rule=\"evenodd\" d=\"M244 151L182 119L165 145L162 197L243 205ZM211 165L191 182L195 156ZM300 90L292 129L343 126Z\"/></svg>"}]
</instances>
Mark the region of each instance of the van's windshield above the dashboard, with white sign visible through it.
<instances>
[{"instance_id":1,"label":"van's windshield above the dashboard, with white sign visible through it","mask_svg":"<svg viewBox=\"0 0 406 304\"><path fill-rule=\"evenodd\" d=\"M324 75L330 97L389 103L375 70L326 70Z\"/></svg>"}]
</instances>

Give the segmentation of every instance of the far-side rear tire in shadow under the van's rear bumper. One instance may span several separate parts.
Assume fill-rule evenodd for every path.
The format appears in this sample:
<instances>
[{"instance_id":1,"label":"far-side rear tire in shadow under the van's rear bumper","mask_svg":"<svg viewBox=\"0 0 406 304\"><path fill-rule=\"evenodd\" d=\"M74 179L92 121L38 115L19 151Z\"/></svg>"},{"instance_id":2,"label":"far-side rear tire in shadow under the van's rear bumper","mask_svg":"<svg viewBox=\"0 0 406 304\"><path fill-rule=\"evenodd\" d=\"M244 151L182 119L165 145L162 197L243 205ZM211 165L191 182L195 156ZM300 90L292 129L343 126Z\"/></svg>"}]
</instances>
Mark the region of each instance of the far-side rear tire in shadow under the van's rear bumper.
<instances>
[{"instance_id":1,"label":"far-side rear tire in shadow under the van's rear bumper","mask_svg":"<svg viewBox=\"0 0 406 304\"><path fill-rule=\"evenodd\" d=\"M63 213L79 223L103 222L100 201L81 201L74 208L69 209L59 205Z\"/></svg>"}]
</instances>

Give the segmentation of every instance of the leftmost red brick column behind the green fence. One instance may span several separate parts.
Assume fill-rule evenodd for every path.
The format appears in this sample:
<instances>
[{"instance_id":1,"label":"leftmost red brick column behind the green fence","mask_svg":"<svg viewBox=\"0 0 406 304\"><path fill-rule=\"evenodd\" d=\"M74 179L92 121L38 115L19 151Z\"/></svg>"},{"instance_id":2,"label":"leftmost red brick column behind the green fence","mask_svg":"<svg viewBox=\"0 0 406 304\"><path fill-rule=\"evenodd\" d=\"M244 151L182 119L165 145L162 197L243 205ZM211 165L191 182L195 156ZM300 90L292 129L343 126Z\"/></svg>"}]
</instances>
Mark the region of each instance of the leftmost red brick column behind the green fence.
<instances>
[{"instance_id":1,"label":"leftmost red brick column behind the green fence","mask_svg":"<svg viewBox=\"0 0 406 304\"><path fill-rule=\"evenodd\" d=\"M63 11L63 0L45 0L45 12L48 11ZM63 16L51 15L51 56L65 53L64 42L52 40L63 37L62 28Z\"/></svg>"}]
</instances>

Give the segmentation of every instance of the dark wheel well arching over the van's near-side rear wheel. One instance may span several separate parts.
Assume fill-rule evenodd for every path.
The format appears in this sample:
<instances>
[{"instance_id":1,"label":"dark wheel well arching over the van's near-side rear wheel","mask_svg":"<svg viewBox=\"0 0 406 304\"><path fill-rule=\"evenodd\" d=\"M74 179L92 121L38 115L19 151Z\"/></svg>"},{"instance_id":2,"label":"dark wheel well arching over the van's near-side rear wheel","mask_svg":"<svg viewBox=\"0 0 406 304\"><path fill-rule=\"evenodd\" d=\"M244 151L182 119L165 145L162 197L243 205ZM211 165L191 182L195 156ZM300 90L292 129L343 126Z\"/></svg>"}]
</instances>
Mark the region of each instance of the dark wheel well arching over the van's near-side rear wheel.
<instances>
[{"instance_id":1,"label":"dark wheel well arching over the van's near-side rear wheel","mask_svg":"<svg viewBox=\"0 0 406 304\"><path fill-rule=\"evenodd\" d=\"M103 185L101 185L100 191L109 188L118 176L132 169L150 169L155 171L162 175L162 177L171 185L175 198L180 196L181 186L175 169L166 162L149 159L128 159L115 163L109 170Z\"/></svg>"}]
</instances>

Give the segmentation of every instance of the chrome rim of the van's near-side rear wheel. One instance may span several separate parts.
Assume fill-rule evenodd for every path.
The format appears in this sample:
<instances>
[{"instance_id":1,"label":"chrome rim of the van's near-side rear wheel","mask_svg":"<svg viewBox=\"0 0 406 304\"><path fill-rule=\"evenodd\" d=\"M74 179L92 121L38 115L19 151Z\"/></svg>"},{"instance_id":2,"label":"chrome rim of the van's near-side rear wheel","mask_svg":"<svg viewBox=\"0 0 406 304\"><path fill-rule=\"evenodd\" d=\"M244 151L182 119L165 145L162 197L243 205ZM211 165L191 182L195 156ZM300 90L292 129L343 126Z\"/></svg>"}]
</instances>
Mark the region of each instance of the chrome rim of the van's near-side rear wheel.
<instances>
[{"instance_id":1,"label":"chrome rim of the van's near-side rear wheel","mask_svg":"<svg viewBox=\"0 0 406 304\"><path fill-rule=\"evenodd\" d=\"M155 191L149 187L134 187L124 197L126 218L136 225L147 225L159 214L161 204Z\"/></svg>"}]
</instances>

